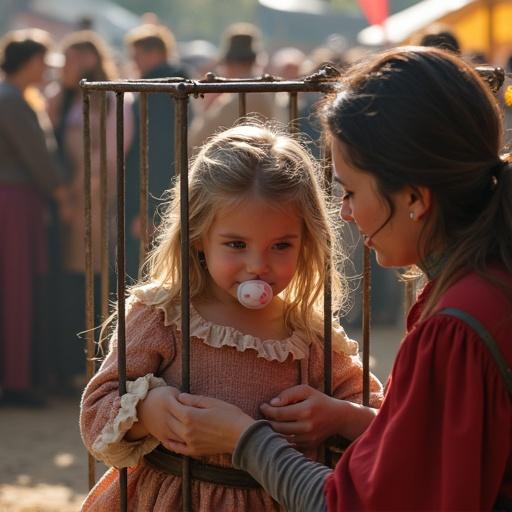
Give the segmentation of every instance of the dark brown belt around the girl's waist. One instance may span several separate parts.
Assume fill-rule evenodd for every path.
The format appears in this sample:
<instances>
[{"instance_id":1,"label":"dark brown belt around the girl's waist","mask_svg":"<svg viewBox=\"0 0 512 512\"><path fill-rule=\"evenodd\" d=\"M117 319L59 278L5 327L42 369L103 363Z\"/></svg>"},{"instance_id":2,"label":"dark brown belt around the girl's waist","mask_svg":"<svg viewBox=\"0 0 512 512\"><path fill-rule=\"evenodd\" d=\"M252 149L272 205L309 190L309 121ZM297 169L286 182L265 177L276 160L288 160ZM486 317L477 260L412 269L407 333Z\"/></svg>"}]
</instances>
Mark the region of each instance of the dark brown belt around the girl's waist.
<instances>
[{"instance_id":1,"label":"dark brown belt around the girl's waist","mask_svg":"<svg viewBox=\"0 0 512 512\"><path fill-rule=\"evenodd\" d=\"M182 475L183 458L181 455L166 450L162 445L144 456L146 462L155 469L174 476ZM261 489L261 485L245 471L204 464L190 459L190 477L192 480L210 482L223 487L239 489Z\"/></svg>"}]
</instances>

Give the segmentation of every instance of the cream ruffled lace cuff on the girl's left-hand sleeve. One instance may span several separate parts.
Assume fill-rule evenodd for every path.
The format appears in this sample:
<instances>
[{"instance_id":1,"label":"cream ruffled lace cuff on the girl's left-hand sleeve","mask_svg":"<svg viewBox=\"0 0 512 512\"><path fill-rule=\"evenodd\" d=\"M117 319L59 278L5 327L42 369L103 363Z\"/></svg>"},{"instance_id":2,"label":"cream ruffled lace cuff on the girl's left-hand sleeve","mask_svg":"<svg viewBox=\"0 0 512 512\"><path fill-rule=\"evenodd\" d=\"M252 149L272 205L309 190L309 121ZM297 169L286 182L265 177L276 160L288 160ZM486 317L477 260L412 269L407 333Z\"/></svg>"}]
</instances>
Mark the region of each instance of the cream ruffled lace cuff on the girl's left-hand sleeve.
<instances>
[{"instance_id":1,"label":"cream ruffled lace cuff on the girl's left-hand sleeve","mask_svg":"<svg viewBox=\"0 0 512 512\"><path fill-rule=\"evenodd\" d=\"M146 398L150 389L161 386L167 386L167 383L152 373L126 383L126 393L121 397L116 417L103 427L92 445L91 453L96 459L117 468L135 466L141 457L158 446L160 442L151 435L137 441L123 438L138 421L137 404Z\"/></svg>"}]
</instances>

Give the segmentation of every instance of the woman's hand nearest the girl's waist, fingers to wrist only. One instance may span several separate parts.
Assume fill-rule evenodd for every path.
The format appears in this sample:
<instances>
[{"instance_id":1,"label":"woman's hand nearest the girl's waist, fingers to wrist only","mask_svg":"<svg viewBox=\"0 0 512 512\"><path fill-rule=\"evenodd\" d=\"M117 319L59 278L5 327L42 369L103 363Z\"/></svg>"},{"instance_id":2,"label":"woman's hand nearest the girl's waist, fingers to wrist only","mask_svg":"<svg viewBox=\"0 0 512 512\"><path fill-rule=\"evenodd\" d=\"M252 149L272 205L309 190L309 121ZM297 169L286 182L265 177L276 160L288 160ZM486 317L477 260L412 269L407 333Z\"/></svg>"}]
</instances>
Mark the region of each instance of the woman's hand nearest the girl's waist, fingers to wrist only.
<instances>
[{"instance_id":1,"label":"woman's hand nearest the girl's waist, fingers to wrist only","mask_svg":"<svg viewBox=\"0 0 512 512\"><path fill-rule=\"evenodd\" d=\"M316 448L328 437L340 433L344 404L310 386L288 388L260 406L272 428L287 436L299 448Z\"/></svg>"}]
</instances>

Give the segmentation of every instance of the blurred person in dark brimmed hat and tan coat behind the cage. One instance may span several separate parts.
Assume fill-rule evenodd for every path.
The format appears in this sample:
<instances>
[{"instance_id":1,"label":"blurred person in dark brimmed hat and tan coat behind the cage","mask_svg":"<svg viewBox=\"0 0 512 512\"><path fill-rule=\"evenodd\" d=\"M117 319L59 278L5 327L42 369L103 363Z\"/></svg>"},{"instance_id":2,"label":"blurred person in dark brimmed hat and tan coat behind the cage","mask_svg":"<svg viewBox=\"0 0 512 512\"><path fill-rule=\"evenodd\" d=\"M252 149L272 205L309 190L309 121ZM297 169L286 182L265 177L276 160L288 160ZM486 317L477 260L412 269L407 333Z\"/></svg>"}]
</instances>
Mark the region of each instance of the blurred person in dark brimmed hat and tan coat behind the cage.
<instances>
[{"instance_id":1,"label":"blurred person in dark brimmed hat and tan coat behind the cage","mask_svg":"<svg viewBox=\"0 0 512 512\"><path fill-rule=\"evenodd\" d=\"M261 32L251 23L235 23L224 33L219 59L218 73L225 78L251 78L262 74L266 54L263 50ZM189 144L196 151L211 135L221 128L231 127L239 118L238 95L223 93L212 96L207 108L198 114L189 132ZM274 117L272 94L252 93L246 97L247 114L271 119Z\"/></svg>"}]
</instances>

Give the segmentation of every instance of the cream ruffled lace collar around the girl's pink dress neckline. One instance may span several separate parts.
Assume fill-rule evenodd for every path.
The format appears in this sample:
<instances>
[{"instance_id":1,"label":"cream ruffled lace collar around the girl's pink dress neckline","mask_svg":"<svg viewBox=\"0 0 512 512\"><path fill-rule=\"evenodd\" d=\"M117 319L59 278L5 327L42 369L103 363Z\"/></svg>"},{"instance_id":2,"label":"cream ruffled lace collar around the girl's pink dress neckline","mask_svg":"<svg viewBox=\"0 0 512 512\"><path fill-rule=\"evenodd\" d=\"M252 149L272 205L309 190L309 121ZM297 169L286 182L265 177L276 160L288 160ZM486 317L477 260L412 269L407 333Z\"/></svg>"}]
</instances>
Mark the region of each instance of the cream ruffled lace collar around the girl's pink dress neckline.
<instances>
[{"instance_id":1,"label":"cream ruffled lace collar around the girl's pink dress neckline","mask_svg":"<svg viewBox=\"0 0 512 512\"><path fill-rule=\"evenodd\" d=\"M133 290L132 294L143 304L163 311L165 325L180 326L180 306L167 299L168 292L165 288L146 285ZM217 325L205 320L193 305L190 306L190 335L201 339L210 347L234 347L239 352L252 349L258 353L258 357L281 363L290 355L294 360L306 359L311 344L311 341L307 341L299 331L294 331L290 337L284 340L262 340L249 334L243 334L234 327ZM349 355L355 355L358 352L357 342L349 339L340 326L333 329L333 347L336 351Z\"/></svg>"}]
</instances>

